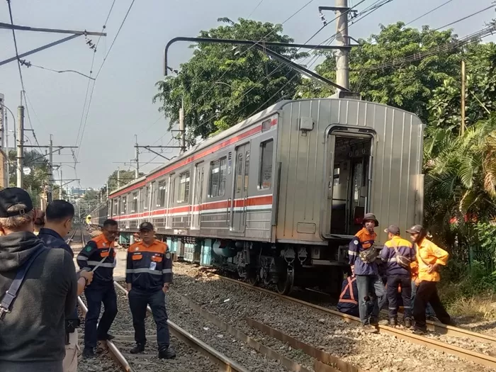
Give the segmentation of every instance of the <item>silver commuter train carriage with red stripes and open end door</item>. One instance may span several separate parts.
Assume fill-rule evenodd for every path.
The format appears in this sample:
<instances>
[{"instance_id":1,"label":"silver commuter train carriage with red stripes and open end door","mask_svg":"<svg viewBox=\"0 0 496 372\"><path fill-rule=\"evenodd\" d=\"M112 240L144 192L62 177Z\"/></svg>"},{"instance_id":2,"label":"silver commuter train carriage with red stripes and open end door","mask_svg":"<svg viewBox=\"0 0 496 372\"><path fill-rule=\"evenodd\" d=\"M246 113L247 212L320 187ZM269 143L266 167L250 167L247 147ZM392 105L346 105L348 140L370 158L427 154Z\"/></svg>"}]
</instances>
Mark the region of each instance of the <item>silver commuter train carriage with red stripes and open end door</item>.
<instances>
[{"instance_id":1,"label":"silver commuter train carriage with red stripes and open end door","mask_svg":"<svg viewBox=\"0 0 496 372\"><path fill-rule=\"evenodd\" d=\"M281 101L113 191L92 220L118 220L130 242L150 221L201 264L280 293L339 291L364 213L381 223L378 245L389 224L422 222L423 130L378 103Z\"/></svg>"}]
</instances>

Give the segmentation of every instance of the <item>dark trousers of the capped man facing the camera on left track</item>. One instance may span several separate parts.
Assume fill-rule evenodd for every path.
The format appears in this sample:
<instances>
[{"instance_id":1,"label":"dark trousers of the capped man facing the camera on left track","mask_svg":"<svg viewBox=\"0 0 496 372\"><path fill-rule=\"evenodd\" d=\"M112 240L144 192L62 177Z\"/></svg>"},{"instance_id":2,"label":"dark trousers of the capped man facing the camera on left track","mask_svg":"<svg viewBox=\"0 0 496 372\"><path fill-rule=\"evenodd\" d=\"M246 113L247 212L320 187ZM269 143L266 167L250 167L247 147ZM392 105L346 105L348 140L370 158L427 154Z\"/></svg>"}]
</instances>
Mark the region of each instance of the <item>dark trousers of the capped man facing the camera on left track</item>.
<instances>
[{"instance_id":1,"label":"dark trousers of the capped man facing the camera on left track","mask_svg":"<svg viewBox=\"0 0 496 372\"><path fill-rule=\"evenodd\" d=\"M157 344L159 349L169 347L169 326L167 325L167 311L165 310L165 294L161 290L152 293L131 289L128 295L129 307L133 314L133 327L135 328L135 341L145 345L145 315L147 305L152 308L153 319L157 324Z\"/></svg>"}]
</instances>

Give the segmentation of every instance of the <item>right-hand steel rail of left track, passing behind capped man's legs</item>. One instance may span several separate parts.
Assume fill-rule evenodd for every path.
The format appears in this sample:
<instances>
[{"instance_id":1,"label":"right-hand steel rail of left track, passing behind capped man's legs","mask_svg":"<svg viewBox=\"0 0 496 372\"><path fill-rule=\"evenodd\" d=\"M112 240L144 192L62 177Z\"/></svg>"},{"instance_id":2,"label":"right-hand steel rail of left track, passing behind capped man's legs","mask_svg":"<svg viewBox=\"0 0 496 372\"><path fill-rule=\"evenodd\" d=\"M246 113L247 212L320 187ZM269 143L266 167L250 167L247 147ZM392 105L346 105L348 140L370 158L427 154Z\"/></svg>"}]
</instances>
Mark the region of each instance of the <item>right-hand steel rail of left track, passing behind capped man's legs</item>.
<instances>
[{"instance_id":1,"label":"right-hand steel rail of left track, passing behind capped man's legs","mask_svg":"<svg viewBox=\"0 0 496 372\"><path fill-rule=\"evenodd\" d=\"M128 291L123 286L121 286L116 281L114 281L113 283L115 288L118 288L119 291L122 291L123 293L128 295ZM152 314L152 309L148 305L147 311ZM205 344L205 342L201 341L201 339L197 339L193 336L193 334L179 327L179 325L176 325L170 320L167 320L167 325L169 325L169 331L171 332L171 334L174 334L177 339L181 340L185 344L188 344L188 346L195 349L196 351L200 351L201 354L203 354L204 356L207 356L210 361L219 366L219 371L249 372L247 368L240 366L232 359L227 358L227 356L225 356L224 354L221 354L217 350L213 349L211 346L208 346L208 344Z\"/></svg>"}]
</instances>

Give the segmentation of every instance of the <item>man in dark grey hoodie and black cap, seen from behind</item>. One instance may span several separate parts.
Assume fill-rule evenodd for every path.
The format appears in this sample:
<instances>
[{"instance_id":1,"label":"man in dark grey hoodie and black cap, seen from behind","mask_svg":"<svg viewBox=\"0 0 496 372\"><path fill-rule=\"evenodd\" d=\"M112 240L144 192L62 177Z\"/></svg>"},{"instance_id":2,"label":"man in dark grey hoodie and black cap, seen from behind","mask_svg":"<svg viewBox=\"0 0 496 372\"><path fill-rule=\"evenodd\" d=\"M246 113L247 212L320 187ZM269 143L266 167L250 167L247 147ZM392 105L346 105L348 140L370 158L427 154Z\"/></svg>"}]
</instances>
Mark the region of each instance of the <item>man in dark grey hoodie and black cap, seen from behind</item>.
<instances>
[{"instance_id":1,"label":"man in dark grey hoodie and black cap, seen from behind","mask_svg":"<svg viewBox=\"0 0 496 372\"><path fill-rule=\"evenodd\" d=\"M2 372L62 372L64 317L76 306L76 269L69 253L47 249L33 234L35 218L26 191L0 191Z\"/></svg>"}]
</instances>

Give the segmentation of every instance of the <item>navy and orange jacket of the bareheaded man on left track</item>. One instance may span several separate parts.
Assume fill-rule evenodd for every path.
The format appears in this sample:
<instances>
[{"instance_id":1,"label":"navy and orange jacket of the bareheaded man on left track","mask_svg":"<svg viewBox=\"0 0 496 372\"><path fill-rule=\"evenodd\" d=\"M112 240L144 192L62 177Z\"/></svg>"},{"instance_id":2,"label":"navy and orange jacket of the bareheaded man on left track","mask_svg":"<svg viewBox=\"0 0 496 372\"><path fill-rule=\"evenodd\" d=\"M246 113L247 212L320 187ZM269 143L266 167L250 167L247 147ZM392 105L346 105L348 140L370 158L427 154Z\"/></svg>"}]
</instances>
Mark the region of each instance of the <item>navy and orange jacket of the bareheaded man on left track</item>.
<instances>
[{"instance_id":1,"label":"navy and orange jacket of the bareheaded man on left track","mask_svg":"<svg viewBox=\"0 0 496 372\"><path fill-rule=\"evenodd\" d=\"M101 234L91 239L77 255L77 264L81 269L94 271L93 283L108 283L113 281L113 268L115 267L115 242L108 242L105 235ZM105 260L100 264L100 261Z\"/></svg>"}]
</instances>

